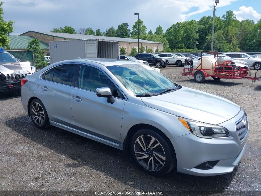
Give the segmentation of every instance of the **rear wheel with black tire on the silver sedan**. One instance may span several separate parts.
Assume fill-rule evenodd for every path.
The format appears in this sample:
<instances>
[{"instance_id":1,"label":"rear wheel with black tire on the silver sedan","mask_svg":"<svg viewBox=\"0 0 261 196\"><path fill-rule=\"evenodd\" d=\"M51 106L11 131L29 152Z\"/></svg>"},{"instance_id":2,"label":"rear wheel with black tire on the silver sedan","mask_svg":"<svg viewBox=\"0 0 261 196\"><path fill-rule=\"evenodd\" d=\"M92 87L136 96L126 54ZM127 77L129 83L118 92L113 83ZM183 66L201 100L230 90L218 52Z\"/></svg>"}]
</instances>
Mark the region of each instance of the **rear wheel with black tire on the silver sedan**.
<instances>
[{"instance_id":1,"label":"rear wheel with black tire on the silver sedan","mask_svg":"<svg viewBox=\"0 0 261 196\"><path fill-rule=\"evenodd\" d=\"M40 106L38 105L40 104ZM39 106L39 107L38 107ZM35 111L35 112L33 112ZM40 129L50 127L49 118L44 104L39 99L34 99L30 104L30 115L33 124ZM37 118L38 117L38 118Z\"/></svg>"}]
</instances>

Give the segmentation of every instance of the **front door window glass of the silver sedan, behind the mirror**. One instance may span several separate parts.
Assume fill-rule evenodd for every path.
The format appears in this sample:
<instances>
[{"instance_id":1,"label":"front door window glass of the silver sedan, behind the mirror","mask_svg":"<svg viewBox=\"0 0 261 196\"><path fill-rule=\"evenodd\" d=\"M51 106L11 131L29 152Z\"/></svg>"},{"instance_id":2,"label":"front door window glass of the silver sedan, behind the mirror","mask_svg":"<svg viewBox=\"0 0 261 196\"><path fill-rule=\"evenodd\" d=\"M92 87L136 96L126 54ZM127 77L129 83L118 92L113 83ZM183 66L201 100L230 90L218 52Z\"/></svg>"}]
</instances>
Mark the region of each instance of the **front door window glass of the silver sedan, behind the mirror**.
<instances>
[{"instance_id":1,"label":"front door window glass of the silver sedan, behind the mirror","mask_svg":"<svg viewBox=\"0 0 261 196\"><path fill-rule=\"evenodd\" d=\"M97 88L108 87L112 91L113 97L124 98L116 85L99 69L82 65L79 74L78 87L94 91Z\"/></svg>"}]
</instances>

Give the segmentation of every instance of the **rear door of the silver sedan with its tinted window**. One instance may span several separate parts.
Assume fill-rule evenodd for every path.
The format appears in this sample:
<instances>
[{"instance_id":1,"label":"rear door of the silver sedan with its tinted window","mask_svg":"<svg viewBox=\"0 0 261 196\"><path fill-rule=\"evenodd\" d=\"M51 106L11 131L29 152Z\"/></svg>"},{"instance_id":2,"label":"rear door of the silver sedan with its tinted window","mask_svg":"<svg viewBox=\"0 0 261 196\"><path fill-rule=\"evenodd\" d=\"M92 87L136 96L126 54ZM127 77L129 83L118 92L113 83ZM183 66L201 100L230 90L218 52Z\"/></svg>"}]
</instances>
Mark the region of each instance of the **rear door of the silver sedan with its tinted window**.
<instances>
[{"instance_id":1,"label":"rear door of the silver sedan with its tinted window","mask_svg":"<svg viewBox=\"0 0 261 196\"><path fill-rule=\"evenodd\" d=\"M42 75L38 84L38 93L46 108L49 120L73 126L71 92L74 89L74 77L77 64L56 66Z\"/></svg>"}]
</instances>

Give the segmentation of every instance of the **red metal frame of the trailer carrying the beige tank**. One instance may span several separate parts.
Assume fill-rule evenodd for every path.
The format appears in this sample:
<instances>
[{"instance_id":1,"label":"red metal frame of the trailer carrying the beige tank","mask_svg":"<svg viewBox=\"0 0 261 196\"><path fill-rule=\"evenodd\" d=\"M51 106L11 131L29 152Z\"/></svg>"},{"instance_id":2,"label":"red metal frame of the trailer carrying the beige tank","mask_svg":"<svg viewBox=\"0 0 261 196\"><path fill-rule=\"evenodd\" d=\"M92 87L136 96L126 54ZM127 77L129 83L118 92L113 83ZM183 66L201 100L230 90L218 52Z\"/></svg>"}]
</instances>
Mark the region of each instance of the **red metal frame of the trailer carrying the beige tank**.
<instances>
[{"instance_id":1,"label":"red metal frame of the trailer carrying the beige tank","mask_svg":"<svg viewBox=\"0 0 261 196\"><path fill-rule=\"evenodd\" d=\"M217 52L203 52L207 54L214 54L214 58L218 57ZM223 65L218 65L217 62L215 63L214 69L202 69L202 52L201 52L201 62L197 68L184 68L182 76L189 76L192 75L194 76L197 72L202 72L205 77L213 77L214 79L217 78L226 78L226 79L247 79L247 80L252 80L252 82L256 82L258 78L256 77L255 72L255 77L248 77L248 69L237 69L233 70L233 67L230 66L233 63L233 61L224 61ZM200 68L199 68L200 67ZM223 67L222 69L220 69ZM219 69L216 69L219 68ZM227 70L225 68L229 68L230 70ZM187 72L186 72L187 71ZM206 71L212 71L213 74L207 74ZM195 80L197 81L197 80ZM199 82L199 81L198 81ZM202 81L204 82L204 80Z\"/></svg>"}]
</instances>

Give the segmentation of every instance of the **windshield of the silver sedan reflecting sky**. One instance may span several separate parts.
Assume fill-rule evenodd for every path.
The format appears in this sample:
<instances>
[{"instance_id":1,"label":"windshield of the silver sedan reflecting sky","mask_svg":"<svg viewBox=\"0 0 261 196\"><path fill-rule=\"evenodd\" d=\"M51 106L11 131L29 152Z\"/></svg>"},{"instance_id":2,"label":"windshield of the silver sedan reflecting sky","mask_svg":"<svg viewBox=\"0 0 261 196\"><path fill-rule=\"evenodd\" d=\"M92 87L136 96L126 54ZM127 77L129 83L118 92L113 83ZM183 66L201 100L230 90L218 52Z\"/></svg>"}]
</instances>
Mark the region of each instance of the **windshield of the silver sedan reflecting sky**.
<instances>
[{"instance_id":1,"label":"windshield of the silver sedan reflecting sky","mask_svg":"<svg viewBox=\"0 0 261 196\"><path fill-rule=\"evenodd\" d=\"M135 96L153 96L181 88L147 65L114 65L108 66L107 69Z\"/></svg>"}]
</instances>

